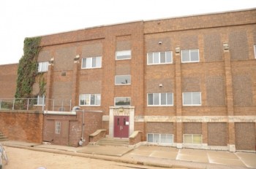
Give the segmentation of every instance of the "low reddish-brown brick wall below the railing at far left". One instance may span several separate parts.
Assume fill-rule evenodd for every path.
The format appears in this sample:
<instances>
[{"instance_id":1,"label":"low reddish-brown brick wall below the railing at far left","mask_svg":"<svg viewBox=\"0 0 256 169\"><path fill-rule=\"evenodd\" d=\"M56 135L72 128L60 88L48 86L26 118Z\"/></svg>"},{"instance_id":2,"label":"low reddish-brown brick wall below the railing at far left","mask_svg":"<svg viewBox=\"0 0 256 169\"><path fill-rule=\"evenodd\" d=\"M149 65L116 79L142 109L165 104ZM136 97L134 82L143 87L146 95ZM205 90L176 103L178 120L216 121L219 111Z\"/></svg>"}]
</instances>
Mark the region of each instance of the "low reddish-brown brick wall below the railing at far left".
<instances>
[{"instance_id":1,"label":"low reddish-brown brick wall below the railing at far left","mask_svg":"<svg viewBox=\"0 0 256 169\"><path fill-rule=\"evenodd\" d=\"M9 140L42 143L42 111L0 111L0 131Z\"/></svg>"}]
</instances>

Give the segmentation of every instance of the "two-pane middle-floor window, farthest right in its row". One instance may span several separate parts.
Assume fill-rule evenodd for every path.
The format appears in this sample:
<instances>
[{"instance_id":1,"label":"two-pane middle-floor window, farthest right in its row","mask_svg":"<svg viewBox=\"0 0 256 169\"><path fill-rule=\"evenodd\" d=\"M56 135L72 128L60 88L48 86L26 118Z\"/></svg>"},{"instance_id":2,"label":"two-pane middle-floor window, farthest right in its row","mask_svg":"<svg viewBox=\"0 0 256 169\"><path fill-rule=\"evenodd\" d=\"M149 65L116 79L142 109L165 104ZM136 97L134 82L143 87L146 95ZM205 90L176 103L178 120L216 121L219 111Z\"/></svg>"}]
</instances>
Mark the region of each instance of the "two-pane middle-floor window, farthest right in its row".
<instances>
[{"instance_id":1,"label":"two-pane middle-floor window, farthest right in its row","mask_svg":"<svg viewBox=\"0 0 256 169\"><path fill-rule=\"evenodd\" d=\"M183 106L201 106L200 92L182 93Z\"/></svg>"}]
</instances>

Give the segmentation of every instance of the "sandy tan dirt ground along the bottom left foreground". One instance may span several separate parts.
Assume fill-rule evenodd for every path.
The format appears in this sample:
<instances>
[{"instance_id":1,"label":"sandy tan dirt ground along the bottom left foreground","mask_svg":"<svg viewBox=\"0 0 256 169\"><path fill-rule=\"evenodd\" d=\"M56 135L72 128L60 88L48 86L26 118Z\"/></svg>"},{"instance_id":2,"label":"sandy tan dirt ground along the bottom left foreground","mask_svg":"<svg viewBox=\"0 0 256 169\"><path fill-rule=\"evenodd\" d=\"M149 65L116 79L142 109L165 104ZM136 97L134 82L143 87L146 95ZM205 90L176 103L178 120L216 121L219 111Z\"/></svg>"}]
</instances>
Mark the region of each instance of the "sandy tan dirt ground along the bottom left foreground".
<instances>
[{"instance_id":1,"label":"sandy tan dirt ground along the bottom left foreground","mask_svg":"<svg viewBox=\"0 0 256 169\"><path fill-rule=\"evenodd\" d=\"M17 149L12 147L4 148L7 152L9 162L3 166L3 169L37 169L40 167L47 169L85 169L85 168L143 168L159 169L143 165L130 165L119 162L110 162L105 160L95 160L85 157L74 157L64 154L53 154L48 152L36 152L28 149ZM5 164L5 161L3 161Z\"/></svg>"}]
</instances>

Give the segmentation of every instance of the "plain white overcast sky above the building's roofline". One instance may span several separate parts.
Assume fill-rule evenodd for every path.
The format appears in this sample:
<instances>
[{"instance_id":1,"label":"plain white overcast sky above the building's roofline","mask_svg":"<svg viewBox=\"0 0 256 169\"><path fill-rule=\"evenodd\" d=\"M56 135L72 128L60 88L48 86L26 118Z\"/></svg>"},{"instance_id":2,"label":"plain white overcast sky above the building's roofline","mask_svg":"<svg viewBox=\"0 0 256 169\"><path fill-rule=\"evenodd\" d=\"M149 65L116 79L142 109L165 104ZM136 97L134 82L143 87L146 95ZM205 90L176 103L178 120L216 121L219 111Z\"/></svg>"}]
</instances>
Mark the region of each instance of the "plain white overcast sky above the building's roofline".
<instances>
[{"instance_id":1,"label":"plain white overcast sky above the building's roofline","mask_svg":"<svg viewBox=\"0 0 256 169\"><path fill-rule=\"evenodd\" d=\"M256 0L1 0L0 65L18 63L26 37L255 7Z\"/></svg>"}]
</instances>

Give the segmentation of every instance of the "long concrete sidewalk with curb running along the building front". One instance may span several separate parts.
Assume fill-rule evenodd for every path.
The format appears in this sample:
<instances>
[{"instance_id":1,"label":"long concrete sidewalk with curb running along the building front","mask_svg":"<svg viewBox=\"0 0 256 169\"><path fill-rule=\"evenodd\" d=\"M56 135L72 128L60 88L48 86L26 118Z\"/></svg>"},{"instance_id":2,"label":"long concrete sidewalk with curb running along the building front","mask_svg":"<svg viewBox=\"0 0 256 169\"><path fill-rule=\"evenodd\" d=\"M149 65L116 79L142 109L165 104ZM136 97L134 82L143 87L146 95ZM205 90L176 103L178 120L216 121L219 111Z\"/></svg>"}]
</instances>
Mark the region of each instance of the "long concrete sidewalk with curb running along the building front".
<instances>
[{"instance_id":1,"label":"long concrete sidewalk with curb running along the building front","mask_svg":"<svg viewBox=\"0 0 256 169\"><path fill-rule=\"evenodd\" d=\"M1 144L34 151L165 168L256 168L256 153L176 149L166 146L139 146L136 149L132 149L122 146L93 145L71 147L51 144L33 144L20 141L3 141Z\"/></svg>"}]
</instances>

